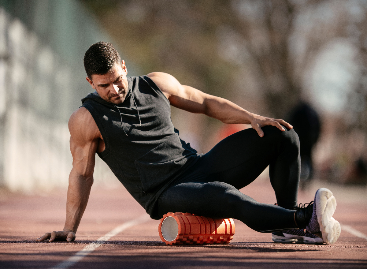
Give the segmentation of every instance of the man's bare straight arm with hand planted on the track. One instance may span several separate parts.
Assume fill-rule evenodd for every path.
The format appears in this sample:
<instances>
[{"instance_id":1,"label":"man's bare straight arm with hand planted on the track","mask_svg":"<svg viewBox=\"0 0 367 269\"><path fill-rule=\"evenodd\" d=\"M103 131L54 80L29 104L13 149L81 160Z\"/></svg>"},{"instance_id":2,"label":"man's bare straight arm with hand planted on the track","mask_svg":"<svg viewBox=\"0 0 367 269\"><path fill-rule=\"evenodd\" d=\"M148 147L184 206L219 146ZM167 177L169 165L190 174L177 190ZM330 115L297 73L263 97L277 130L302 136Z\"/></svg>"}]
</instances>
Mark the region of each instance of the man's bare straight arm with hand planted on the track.
<instances>
[{"instance_id":1,"label":"man's bare straight arm with hand planted on the track","mask_svg":"<svg viewBox=\"0 0 367 269\"><path fill-rule=\"evenodd\" d=\"M49 239L73 241L81 217L87 207L93 184L95 153L101 138L98 127L90 112L81 107L69 119L70 151L73 168L69 175L68 197L66 200L66 220L62 231L46 233L37 241Z\"/></svg>"}]
</instances>

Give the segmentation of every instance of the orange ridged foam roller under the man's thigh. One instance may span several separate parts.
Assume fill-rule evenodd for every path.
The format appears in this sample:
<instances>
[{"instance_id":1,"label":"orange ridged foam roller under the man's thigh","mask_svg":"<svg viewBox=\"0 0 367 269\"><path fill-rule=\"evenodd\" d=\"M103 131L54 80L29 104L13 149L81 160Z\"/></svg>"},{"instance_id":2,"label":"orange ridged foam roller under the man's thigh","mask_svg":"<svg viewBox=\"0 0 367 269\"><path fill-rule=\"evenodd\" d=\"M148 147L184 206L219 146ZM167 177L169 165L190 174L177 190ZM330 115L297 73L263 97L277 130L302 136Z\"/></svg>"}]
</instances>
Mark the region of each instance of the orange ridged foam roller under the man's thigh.
<instances>
[{"instance_id":1,"label":"orange ridged foam roller under the man's thigh","mask_svg":"<svg viewBox=\"0 0 367 269\"><path fill-rule=\"evenodd\" d=\"M167 213L158 226L166 245L227 244L235 234L233 219L212 219L190 213Z\"/></svg>"}]
</instances>

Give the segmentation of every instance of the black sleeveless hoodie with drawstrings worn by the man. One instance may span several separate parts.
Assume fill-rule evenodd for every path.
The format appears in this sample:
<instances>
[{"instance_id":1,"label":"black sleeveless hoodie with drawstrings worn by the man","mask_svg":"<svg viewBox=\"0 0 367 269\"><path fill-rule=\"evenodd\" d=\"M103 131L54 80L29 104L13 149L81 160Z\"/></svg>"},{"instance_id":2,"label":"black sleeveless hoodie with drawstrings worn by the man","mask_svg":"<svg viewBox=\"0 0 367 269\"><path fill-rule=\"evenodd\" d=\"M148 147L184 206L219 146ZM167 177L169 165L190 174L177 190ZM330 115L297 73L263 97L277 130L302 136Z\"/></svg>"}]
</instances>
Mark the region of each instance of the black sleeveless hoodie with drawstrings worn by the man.
<instances>
[{"instance_id":1,"label":"black sleeveless hoodie with drawstrings worn by the man","mask_svg":"<svg viewBox=\"0 0 367 269\"><path fill-rule=\"evenodd\" d=\"M171 121L170 102L147 76L128 77L122 104L97 93L81 100L91 113L105 143L98 156L153 219L159 195L192 166L197 151L179 137Z\"/></svg>"}]
</instances>

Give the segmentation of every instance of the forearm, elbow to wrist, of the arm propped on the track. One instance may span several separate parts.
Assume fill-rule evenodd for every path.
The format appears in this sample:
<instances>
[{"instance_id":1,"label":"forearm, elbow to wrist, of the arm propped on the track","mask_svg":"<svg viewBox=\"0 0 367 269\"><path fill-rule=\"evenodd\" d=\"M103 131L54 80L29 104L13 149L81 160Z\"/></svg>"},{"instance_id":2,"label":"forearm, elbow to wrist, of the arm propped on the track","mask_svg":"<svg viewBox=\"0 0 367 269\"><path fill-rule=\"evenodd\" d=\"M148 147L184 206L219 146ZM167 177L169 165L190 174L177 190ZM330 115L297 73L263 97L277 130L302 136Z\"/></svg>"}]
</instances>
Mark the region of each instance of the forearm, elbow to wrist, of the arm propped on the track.
<instances>
[{"instance_id":1,"label":"forearm, elbow to wrist, of the arm propped on the track","mask_svg":"<svg viewBox=\"0 0 367 269\"><path fill-rule=\"evenodd\" d=\"M81 217L87 207L93 176L84 177L72 170L69 176L68 197L66 200L65 229L76 232Z\"/></svg>"}]
</instances>

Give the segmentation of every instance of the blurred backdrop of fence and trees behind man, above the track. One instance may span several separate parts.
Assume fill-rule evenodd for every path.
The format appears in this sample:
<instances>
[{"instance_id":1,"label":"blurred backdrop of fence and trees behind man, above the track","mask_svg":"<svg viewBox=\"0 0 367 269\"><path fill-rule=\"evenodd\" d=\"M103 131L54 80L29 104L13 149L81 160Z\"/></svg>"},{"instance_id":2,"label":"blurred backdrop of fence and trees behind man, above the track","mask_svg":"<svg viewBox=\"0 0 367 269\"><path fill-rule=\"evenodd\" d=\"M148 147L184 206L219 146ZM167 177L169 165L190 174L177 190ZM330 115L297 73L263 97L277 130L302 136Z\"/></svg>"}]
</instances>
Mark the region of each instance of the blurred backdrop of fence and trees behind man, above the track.
<instances>
[{"instance_id":1,"label":"blurred backdrop of fence and trees behind man, above the track","mask_svg":"<svg viewBox=\"0 0 367 269\"><path fill-rule=\"evenodd\" d=\"M68 118L93 90L83 57L112 42L128 75L153 71L283 118L301 180L367 183L366 0L0 0L0 185L66 187ZM172 107L199 153L248 125ZM97 157L95 184L120 182ZM265 174L266 177L266 174Z\"/></svg>"}]
</instances>

